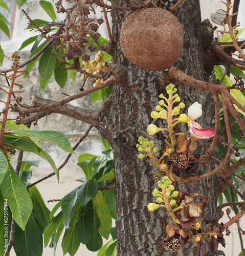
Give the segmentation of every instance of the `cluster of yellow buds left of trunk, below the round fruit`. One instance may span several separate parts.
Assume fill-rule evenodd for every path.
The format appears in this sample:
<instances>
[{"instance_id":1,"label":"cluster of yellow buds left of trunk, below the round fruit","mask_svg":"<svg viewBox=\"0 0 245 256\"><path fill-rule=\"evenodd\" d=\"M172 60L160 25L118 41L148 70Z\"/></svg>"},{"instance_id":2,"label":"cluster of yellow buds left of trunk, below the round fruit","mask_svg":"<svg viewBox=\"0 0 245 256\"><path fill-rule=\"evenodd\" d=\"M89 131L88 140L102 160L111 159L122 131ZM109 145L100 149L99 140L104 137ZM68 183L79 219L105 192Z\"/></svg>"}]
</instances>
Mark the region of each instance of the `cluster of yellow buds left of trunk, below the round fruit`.
<instances>
[{"instance_id":1,"label":"cluster of yellow buds left of trunk, below the round fruit","mask_svg":"<svg viewBox=\"0 0 245 256\"><path fill-rule=\"evenodd\" d=\"M103 59L103 55L104 53L102 51L98 51L95 58L92 59L90 62L82 61L81 69L93 75L99 75L100 71L103 71L103 72L109 71L108 68L106 68L104 65L105 61ZM82 75L81 79L85 81L87 77L88 77L87 75ZM103 79L98 78L95 80L93 86L97 86L102 82L103 82Z\"/></svg>"}]
</instances>

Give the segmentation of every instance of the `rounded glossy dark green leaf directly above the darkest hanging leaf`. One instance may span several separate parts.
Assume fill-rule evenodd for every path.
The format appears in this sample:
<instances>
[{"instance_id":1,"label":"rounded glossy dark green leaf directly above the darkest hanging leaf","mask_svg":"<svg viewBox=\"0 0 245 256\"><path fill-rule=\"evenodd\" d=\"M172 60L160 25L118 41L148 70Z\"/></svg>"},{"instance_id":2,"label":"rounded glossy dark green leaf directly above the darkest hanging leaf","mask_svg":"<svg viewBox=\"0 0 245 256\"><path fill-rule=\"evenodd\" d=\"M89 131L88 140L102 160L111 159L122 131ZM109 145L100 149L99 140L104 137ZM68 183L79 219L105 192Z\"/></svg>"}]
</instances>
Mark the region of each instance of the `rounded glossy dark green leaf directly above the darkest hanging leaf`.
<instances>
[{"instance_id":1,"label":"rounded glossy dark green leaf directly above the darkest hanging leaf","mask_svg":"<svg viewBox=\"0 0 245 256\"><path fill-rule=\"evenodd\" d=\"M92 198L96 196L98 190L97 180L86 180L77 189L77 198L82 206L85 206Z\"/></svg>"}]
</instances>

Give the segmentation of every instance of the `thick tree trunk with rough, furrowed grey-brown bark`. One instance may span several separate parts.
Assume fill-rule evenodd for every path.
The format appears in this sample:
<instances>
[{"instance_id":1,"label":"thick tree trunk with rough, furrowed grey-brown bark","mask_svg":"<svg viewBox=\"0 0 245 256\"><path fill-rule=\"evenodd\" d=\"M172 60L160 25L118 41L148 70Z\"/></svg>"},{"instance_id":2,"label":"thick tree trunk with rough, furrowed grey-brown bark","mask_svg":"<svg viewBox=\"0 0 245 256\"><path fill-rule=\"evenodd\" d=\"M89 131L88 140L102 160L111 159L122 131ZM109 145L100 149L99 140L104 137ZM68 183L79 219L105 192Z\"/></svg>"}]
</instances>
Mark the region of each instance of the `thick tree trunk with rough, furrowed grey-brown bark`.
<instances>
[{"instance_id":1,"label":"thick tree trunk with rough, furrowed grey-brown bark","mask_svg":"<svg viewBox=\"0 0 245 256\"><path fill-rule=\"evenodd\" d=\"M127 3L125 0L113 1L114 5L119 6L125 6ZM152 191L158 186L153 177L159 170L157 167L152 167L147 159L139 160L139 152L136 148L140 136L154 140L156 146L163 148L163 137L161 135L151 137L146 129L152 122L150 113L158 104L159 94L164 93L166 81L161 76L161 72L159 74L137 68L124 58L119 36L121 25L127 15L128 12L122 11L112 13L114 62L126 68L126 72L123 81L113 87L113 93L101 112L103 121L100 123L100 132L110 141L114 149L117 255L173 255L166 250L163 242L166 237L165 227L168 224L166 212L162 208L154 212L149 212L147 209L147 204L154 200ZM183 25L185 42L182 55L175 63L175 67L186 73L193 73L197 79L207 80L212 65L207 64L206 56L213 35L209 23L201 24L199 1L183 2L176 16ZM195 101L203 104L204 114L198 121L205 127L210 126L214 113L212 95L190 88L184 83L176 83L176 87L186 104L185 110ZM186 132L186 129L187 127L183 125L182 131ZM207 140L204 142L207 143ZM200 147L199 152L202 151L204 151L203 147ZM195 175L200 175L202 172L209 170L202 168L197 170ZM220 179L213 176L209 182L201 180L195 184L182 184L179 188L189 193L205 195L209 199L205 213L210 212L218 219L220 216L216 206L221 186ZM181 251L174 255L196 255L195 249L190 249L191 245L184 243L182 245Z\"/></svg>"}]
</instances>

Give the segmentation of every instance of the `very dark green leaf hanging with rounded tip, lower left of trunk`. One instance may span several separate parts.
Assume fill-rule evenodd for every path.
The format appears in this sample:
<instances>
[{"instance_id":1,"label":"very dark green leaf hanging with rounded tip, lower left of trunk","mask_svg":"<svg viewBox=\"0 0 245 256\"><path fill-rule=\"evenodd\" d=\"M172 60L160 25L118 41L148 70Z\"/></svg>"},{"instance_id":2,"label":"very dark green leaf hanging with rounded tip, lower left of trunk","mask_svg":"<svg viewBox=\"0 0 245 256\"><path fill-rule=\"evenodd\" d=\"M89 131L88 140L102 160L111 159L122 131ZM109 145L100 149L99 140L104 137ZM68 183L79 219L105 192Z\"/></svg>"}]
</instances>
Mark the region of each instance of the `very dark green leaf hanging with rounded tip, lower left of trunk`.
<instances>
[{"instance_id":1,"label":"very dark green leaf hanging with rounded tip, lower left of trunk","mask_svg":"<svg viewBox=\"0 0 245 256\"><path fill-rule=\"evenodd\" d=\"M94 229L93 229L93 233L90 238L90 241L86 243L86 247L90 251L98 251L103 245L103 240L102 240L101 234L99 233L100 220L97 216L94 203L93 203L93 211L94 211L94 215L91 216L91 218L93 218Z\"/></svg>"}]
</instances>

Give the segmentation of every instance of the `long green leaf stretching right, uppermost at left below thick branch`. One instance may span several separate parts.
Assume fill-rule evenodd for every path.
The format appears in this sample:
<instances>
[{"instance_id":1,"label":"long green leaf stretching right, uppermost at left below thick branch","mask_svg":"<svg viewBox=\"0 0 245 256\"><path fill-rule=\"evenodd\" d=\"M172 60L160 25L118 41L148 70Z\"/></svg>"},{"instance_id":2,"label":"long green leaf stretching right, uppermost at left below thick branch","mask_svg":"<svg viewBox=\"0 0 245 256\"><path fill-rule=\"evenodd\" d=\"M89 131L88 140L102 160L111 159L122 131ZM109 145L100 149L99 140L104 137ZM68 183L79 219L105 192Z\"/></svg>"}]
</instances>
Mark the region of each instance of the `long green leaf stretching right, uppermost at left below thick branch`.
<instances>
[{"instance_id":1,"label":"long green leaf stretching right, uppermost at left below thick branch","mask_svg":"<svg viewBox=\"0 0 245 256\"><path fill-rule=\"evenodd\" d=\"M56 131L6 131L6 134L16 136L27 136L39 140L48 141L59 146L62 150L74 154L72 146L65 134Z\"/></svg>"}]
</instances>

